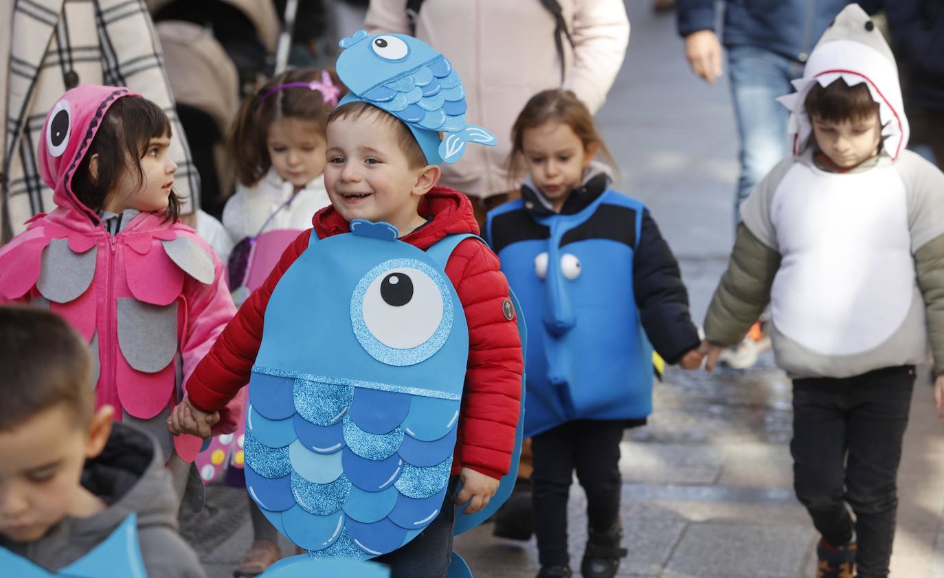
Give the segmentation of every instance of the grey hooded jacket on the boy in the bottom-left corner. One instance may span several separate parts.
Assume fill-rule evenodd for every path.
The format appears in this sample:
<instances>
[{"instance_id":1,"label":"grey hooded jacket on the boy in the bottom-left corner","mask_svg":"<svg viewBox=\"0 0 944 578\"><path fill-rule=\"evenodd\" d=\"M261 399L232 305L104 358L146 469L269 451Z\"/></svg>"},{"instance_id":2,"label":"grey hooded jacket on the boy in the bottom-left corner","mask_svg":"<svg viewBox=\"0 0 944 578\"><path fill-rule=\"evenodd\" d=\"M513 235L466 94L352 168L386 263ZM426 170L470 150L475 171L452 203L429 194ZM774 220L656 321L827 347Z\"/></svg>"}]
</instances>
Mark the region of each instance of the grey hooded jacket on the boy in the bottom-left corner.
<instances>
[{"instance_id":1,"label":"grey hooded jacket on the boy in the bottom-left corner","mask_svg":"<svg viewBox=\"0 0 944 578\"><path fill-rule=\"evenodd\" d=\"M206 578L194 551L177 535L177 498L163 464L153 438L114 423L105 450L82 471L82 486L107 507L89 518L66 518L35 542L0 536L0 547L55 572L91 552L136 513L148 578Z\"/></svg>"}]
</instances>

